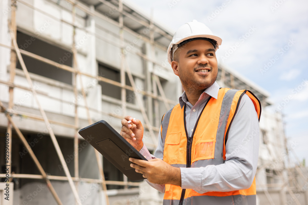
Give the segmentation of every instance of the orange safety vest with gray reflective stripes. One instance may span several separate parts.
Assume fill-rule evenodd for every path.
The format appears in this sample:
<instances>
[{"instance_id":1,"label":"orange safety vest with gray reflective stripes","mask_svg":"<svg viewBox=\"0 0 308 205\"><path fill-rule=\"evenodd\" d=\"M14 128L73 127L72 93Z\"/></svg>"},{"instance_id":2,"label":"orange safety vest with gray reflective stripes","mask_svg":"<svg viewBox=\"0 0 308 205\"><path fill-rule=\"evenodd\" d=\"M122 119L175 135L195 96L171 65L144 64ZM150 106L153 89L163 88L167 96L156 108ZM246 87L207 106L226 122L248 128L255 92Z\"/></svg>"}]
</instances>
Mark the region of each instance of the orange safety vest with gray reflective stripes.
<instances>
[{"instance_id":1,"label":"orange safety vest with gray reflective stripes","mask_svg":"<svg viewBox=\"0 0 308 205\"><path fill-rule=\"evenodd\" d=\"M163 160L174 167L205 167L225 162L225 144L231 123L237 113L241 97L252 100L259 120L261 104L248 90L221 88L217 100L213 97L205 104L196 122L192 136L188 136L185 106L180 104L166 112L161 123L164 148ZM198 123L199 122L199 123ZM164 205L167 204L256 204L255 178L251 187L238 191L210 191L199 194L193 189L166 184Z\"/></svg>"}]
</instances>

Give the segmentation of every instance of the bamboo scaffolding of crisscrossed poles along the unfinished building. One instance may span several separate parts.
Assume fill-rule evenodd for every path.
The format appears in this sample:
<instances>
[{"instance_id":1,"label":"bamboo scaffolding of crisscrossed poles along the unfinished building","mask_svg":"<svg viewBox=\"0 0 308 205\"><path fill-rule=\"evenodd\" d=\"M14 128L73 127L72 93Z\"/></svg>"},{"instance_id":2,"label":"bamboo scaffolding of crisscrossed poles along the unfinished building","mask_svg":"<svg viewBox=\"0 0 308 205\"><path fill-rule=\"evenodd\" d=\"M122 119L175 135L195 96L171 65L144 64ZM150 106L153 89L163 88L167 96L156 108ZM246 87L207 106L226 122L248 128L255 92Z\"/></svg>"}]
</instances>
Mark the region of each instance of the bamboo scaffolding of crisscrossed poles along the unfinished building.
<instances>
[{"instance_id":1,"label":"bamboo scaffolding of crisscrossed poles along the unfinished building","mask_svg":"<svg viewBox=\"0 0 308 205\"><path fill-rule=\"evenodd\" d=\"M74 102L74 105L75 105L75 123L74 124L67 124L67 123L63 123L63 122L58 122L56 120L48 120L47 115L46 115L44 109L42 108L37 95L39 94L39 95L44 95L44 96L47 96L47 97L50 97L50 96L48 96L47 93L36 91L36 89L34 89L34 85L32 83L31 77L30 77L29 72L28 72L28 70L26 68L26 65L25 65L25 63L23 61L22 54L25 55L25 56L34 58L36 60L39 60L39 61L43 61L46 64L53 65L53 66L55 66L55 67L57 67L59 69L63 69L63 70L69 71L69 72L71 72L73 74L73 92L74 92L74 95L75 95L75 99L77 99L77 95L78 95L77 86L78 86L78 82L79 82L79 86L81 88L81 93L82 93L83 100L84 100L84 106L82 106L82 107L86 108L88 124L90 125L90 124L93 123L92 119L91 119L91 116L90 116L90 112L89 112L91 110L91 108L89 108L88 105L87 105L86 93L85 93L84 86L83 86L82 76L90 77L90 78L96 79L98 81L103 81L103 82L106 82L106 83L109 83L109 84L112 84L112 85L115 85L115 86L118 86L118 87L121 88L121 101L122 101L122 104L124 105L122 115L116 115L115 116L114 113L105 113L105 112L101 112L99 110L93 110L92 109L92 111L97 111L97 112L100 112L101 114L105 114L105 115L109 115L109 116L112 116L112 117L117 117L119 119L123 119L124 116L126 115L126 103L125 103L126 102L126 89L131 90L131 91L133 91L135 93L141 93L142 95L145 95L147 97L155 99L156 101L162 101L162 102L164 102L164 104L165 104L167 109L169 109L170 104L176 104L175 101L172 101L172 100L166 98L166 96L164 94L164 90L162 89L162 85L160 84L160 81L159 81L158 77L155 74L152 74L152 78L155 79L155 80L153 80L153 86L155 86L155 87L157 86L159 88L161 96L159 96L157 94L157 91L152 93L151 90L147 90L147 91L143 91L143 90L139 91L139 90L137 90L136 84L134 82L134 79L132 77L132 73L130 72L130 68L128 66L128 62L127 62L125 54L124 54L124 31L126 31L126 32L128 32L130 34L133 34L136 37L138 36L139 38L141 38L142 40L144 40L144 41L146 41L148 43L151 43L151 45L152 45L152 52L154 52L155 46L163 48L164 50L166 50L166 48L164 46L162 46L160 44L157 44L154 41L154 35L153 35L154 30L156 30L156 32L160 33L161 35L168 36L169 38L170 38L170 35L166 34L165 31L161 30L159 27L154 26L154 24L152 22L146 22L146 21L137 19L132 14L129 14L129 13L125 12L123 10L123 2L122 1L119 1L118 5L114 5L114 4L111 5L111 3L108 2L108 1L100 0L100 2L103 3L103 4L107 4L107 5L112 6L112 7L117 6L116 10L120 13L120 15L119 15L119 22L116 22L114 20L111 20L110 18L107 18L103 14L95 11L93 9L93 7L87 7L87 6L83 5L82 3L78 2L78 1L66 0L66 2L70 3L71 6L72 6L72 9L70 10L70 12L72 14L72 17L73 17L73 22L72 23L67 22L67 21L65 21L63 19L57 19L54 16L52 16L51 14L49 14L49 13L43 11L43 10L40 10L38 8L35 8L34 6L28 4L27 2L24 2L22 0L20 0L20 1L19 0L11 0L11 18L10 18L10 22L9 22L10 37L11 37L11 40L12 40L11 41L11 46L0 44L0 46L2 46L2 47L6 47L6 48L11 49L10 81L8 81L8 82L7 81L2 81L2 80L0 81L0 83L9 86L9 102L8 102L8 107L6 108L4 106L4 104L2 103L2 101L0 101L0 107L1 107L1 112L4 112L6 117L7 117L7 119L8 119L7 132L11 134L12 133L12 128L14 128L14 130L18 134L18 137L21 139L23 145L25 146L25 148L29 152L31 158L34 160L34 163L36 164L37 168L39 169L41 175L12 174L12 173L9 173L9 175L10 175L10 178L44 179L46 181L46 183L47 183L47 187L51 191L51 194L54 196L56 203L59 204L59 205L62 205L63 203L59 199L59 196L57 195L54 187L52 186L52 184L50 182L50 180L67 180L69 185L70 185L70 187L71 187L71 191L72 191L72 193L74 195L75 203L76 204L81 204L81 200L79 198L78 191L77 191L77 187L78 187L78 183L79 182L83 181L83 182L99 183L99 184L102 185L102 188L103 188L103 191L104 191L104 195L105 195L106 204L109 205L106 184L124 185L124 186L127 187L127 186L138 186L139 183L138 182L128 182L127 178L124 178L123 182L121 182L121 181L105 181L105 177L104 177L104 173L103 173L102 157L99 154L99 152L96 151L96 150L95 150L95 156L96 156L97 164L98 164L98 168L99 168L98 171L99 171L100 179L87 179L87 178L80 178L79 177L79 173L78 173L78 169L79 169L79 164L78 164L78 136L79 136L79 134L78 134L78 131L79 131L80 127L79 127L78 107L80 107L81 105L78 104L78 101ZM22 50L22 49L18 48L17 40L16 40L16 37L17 37L17 35L16 35L17 34L17 25L16 25L16 6L17 6L17 3L22 3L22 4L32 8L33 10L41 12L42 14L45 14L48 17L51 17L51 18L55 19L56 21L64 22L64 23L66 23L66 24L68 24L68 25L73 27L73 33L72 33L73 43L72 43L72 49L71 49L72 54L73 54L73 66L72 67L67 66L67 65L59 64L59 63L57 63L55 61L51 61L51 60L49 60L47 58L44 58L42 56L36 55L34 53L30 53L30 52L28 52L26 50ZM120 28L120 34L119 34L119 36L120 36L120 45L117 45L116 43L106 39L103 36L100 36L98 34L95 34L95 33L91 32L91 31L83 28L83 27L78 26L75 23L76 8L86 12L90 16L95 16L95 17L98 17L98 18L102 18L103 20L105 20L105 21L107 21L109 23L112 23L115 26L118 26ZM63 9L65 9L65 8L63 8ZM126 17L128 17L128 18L131 18L132 20L135 20L135 21L139 22L140 24L142 24L144 26L147 26L151 30L151 33L152 33L150 39L148 39L146 36L140 36L140 34L134 32L133 30L130 30L128 27L125 27L124 26L124 21L123 21L124 15ZM91 35L94 35L95 37L97 37L97 38L99 38L99 39L101 39L103 41L107 41L108 43L110 43L112 45L115 45L115 46L117 46L117 47L119 47L121 49L121 53L122 54L121 54L121 57L120 57L120 61L121 61L121 63L120 63L120 65L121 65L120 66L121 81L120 82L113 81L113 80L110 80L110 79L107 79L107 78L104 78L104 77L101 77L101 76L90 75L88 73L84 73L84 72L81 72L79 70L78 60L77 60L77 50L75 48L76 29L83 30L83 31L85 31L85 32L87 32L87 33L89 33ZM142 53L134 53L134 54L140 56L145 61L151 62L153 65L162 67L161 63L156 62L154 60L154 58L149 59L146 55L144 55ZM18 59L18 61L21 64L22 70L23 70L23 72L24 72L24 74L26 76L26 79L27 79L27 82L29 84L29 87L24 87L24 86L20 86L20 85L14 84L16 60L17 59ZM162 68L163 69L167 69L166 67L162 67ZM126 85L126 83L125 83L125 72L128 74L129 81L130 81L132 86ZM24 89L24 90L28 90L28 91L32 92L33 97L34 97L36 103L39 106L39 110L40 110L41 116L34 115L34 114L28 113L28 112L21 112L21 111L14 111L13 112L12 108L14 107L14 103L13 103L14 88ZM59 99L59 98L56 98L56 97L51 97L51 99L58 100L60 102L65 102L62 99ZM150 132L150 135L151 135L151 138L152 138L152 142L153 142L152 146L156 147L157 146L157 140L156 140L156 136L154 134L154 131L158 132L159 128L154 127L154 126L151 125L150 120L149 120L148 115L147 115L147 112L146 112L146 110L144 108L142 99L140 98L139 95L136 95L136 100L137 100L138 106L140 107L143 119L145 121L145 128L147 128L148 131ZM70 102L67 102L67 103L70 103ZM158 106L158 104L156 103L155 104L156 110L157 110L157 106ZM30 119L43 120L45 122L46 128L48 129L48 132L49 132L49 135L51 137L52 143L55 146L55 150L56 150L57 155L58 155L58 157L60 159L61 165L63 166L63 169L65 171L65 175L66 176L53 176L53 175L47 175L46 174L46 172L44 171L42 165L39 163L39 160L35 156L34 152L32 151L32 149L29 146L28 142L26 141L25 137L23 136L22 132L19 130L17 125L14 123L14 120L12 119L13 115L22 115L22 116L30 118ZM159 115L156 115L156 118L159 118ZM159 121L159 120L156 119L156 122L157 121ZM74 158L74 170L75 170L75 176L74 177L71 176L71 174L70 174L70 172L68 170L67 164L66 164L66 162L64 160L63 154L62 154L62 152L60 150L60 147L59 147L59 144L58 144L57 139L55 137L55 134L53 132L53 129L50 126L51 122L54 123L54 124L59 124L59 125L65 126L65 127L75 128L74 151L75 151L75 153L77 153L77 156L75 156L75 158ZM9 150L12 150L11 148L12 148L12 141L10 140L10 142L9 142ZM11 165L11 159L9 160L9 162L6 165L9 165L9 166ZM5 177L5 176L3 174L0 174L0 177Z\"/></svg>"}]
</instances>

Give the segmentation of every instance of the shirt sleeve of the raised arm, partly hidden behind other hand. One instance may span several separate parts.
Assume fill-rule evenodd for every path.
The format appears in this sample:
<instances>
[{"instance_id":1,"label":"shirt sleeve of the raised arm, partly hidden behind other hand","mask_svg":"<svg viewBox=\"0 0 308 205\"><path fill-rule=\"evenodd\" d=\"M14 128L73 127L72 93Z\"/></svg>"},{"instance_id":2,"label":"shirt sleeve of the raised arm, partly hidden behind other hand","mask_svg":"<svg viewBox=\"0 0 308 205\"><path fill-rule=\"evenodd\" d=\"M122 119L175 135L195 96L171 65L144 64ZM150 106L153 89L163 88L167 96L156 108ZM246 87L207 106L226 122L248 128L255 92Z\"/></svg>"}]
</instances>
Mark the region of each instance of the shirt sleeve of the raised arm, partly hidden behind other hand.
<instances>
[{"instance_id":1,"label":"shirt sleeve of the raised arm, partly hidden behind other hand","mask_svg":"<svg viewBox=\"0 0 308 205\"><path fill-rule=\"evenodd\" d=\"M149 159L155 159L155 158L160 158L161 160L163 159L163 142L161 140L161 134L159 132L159 136L158 136L158 146L156 148L156 151L154 153L154 155L151 155L150 152L148 151L148 149L146 148L145 145L143 145L142 149L139 151L140 154L142 154L147 160ZM165 192L165 185L164 184L155 184L155 183L151 183L148 181L148 179L145 179L146 182L148 182L148 184L155 188L156 190L158 190L161 193Z\"/></svg>"}]
</instances>

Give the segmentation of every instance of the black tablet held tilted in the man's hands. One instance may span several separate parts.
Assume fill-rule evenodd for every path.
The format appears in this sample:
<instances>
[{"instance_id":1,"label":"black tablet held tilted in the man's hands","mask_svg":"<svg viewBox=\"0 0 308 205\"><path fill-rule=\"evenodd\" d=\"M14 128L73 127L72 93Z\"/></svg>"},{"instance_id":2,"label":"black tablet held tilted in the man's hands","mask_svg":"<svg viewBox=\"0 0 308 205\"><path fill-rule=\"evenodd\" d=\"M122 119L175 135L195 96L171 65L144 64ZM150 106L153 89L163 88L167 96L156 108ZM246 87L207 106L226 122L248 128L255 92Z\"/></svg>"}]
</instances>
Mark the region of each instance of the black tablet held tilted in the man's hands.
<instances>
[{"instance_id":1,"label":"black tablet held tilted in the man's hands","mask_svg":"<svg viewBox=\"0 0 308 205\"><path fill-rule=\"evenodd\" d=\"M101 120L79 130L79 134L87 140L108 161L118 168L128 179L135 181L145 179L141 173L132 168L129 157L147 160L131 144L128 143L106 121Z\"/></svg>"}]
</instances>

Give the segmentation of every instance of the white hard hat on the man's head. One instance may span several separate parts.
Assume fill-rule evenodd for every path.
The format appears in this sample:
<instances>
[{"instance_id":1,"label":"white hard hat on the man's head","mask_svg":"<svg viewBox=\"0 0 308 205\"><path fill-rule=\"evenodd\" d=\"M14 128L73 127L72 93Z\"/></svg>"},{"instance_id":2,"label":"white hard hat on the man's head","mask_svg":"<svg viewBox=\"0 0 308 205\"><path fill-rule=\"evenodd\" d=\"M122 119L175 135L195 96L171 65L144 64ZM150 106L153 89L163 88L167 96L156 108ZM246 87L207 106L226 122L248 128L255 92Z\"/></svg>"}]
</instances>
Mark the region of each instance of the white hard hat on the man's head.
<instances>
[{"instance_id":1,"label":"white hard hat on the man's head","mask_svg":"<svg viewBox=\"0 0 308 205\"><path fill-rule=\"evenodd\" d=\"M199 39L207 38L204 40L210 41L213 45L216 44L214 45L216 50L219 48L219 45L221 45L221 41L222 41L220 37L214 36L213 32L207 26L205 26L201 22L197 22L197 20L193 20L192 22L185 23L175 32L172 38L172 41L168 47L167 59L170 65L173 60L173 53L175 51L173 50L172 52L172 48L174 48L174 45L178 45L185 40L193 39L193 38L199 38ZM197 40L197 39L194 39L194 40Z\"/></svg>"}]
</instances>

